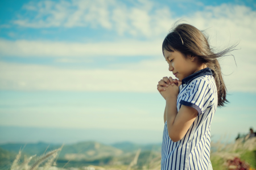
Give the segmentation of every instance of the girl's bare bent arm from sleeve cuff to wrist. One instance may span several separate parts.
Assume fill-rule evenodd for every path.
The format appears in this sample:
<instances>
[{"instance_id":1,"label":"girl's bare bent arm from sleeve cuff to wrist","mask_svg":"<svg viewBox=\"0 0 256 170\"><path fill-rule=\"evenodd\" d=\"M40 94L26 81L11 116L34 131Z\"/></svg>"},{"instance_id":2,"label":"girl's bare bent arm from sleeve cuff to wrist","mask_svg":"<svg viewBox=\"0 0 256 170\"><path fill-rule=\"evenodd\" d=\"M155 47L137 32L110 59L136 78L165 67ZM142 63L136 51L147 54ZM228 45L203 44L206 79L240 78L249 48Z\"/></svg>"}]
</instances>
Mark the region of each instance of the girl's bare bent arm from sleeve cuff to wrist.
<instances>
[{"instance_id":1,"label":"girl's bare bent arm from sleeve cuff to wrist","mask_svg":"<svg viewBox=\"0 0 256 170\"><path fill-rule=\"evenodd\" d=\"M181 105L179 113L177 113L176 103L176 97L166 100L168 134L174 142L180 141L184 137L198 114L195 108L185 105Z\"/></svg>"}]
</instances>

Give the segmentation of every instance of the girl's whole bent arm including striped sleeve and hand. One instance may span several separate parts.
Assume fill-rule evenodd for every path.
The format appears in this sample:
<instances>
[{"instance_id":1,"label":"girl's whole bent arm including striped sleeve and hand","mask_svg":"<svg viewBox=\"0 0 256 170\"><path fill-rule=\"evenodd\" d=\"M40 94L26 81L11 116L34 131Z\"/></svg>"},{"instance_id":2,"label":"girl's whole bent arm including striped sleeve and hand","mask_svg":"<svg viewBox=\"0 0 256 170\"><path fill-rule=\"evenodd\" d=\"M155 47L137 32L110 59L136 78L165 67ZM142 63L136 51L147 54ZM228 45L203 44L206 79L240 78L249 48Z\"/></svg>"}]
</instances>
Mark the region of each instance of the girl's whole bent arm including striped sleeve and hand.
<instances>
[{"instance_id":1,"label":"girl's whole bent arm including striped sleeve and hand","mask_svg":"<svg viewBox=\"0 0 256 170\"><path fill-rule=\"evenodd\" d=\"M167 105L168 135L174 142L180 141L184 137L196 117L202 114L207 109L208 104L214 99L212 95L213 90L208 82L203 79L196 79L192 84L194 88L191 88L187 95L180 100L181 107L178 113L176 103L179 88L177 86L169 86L166 87L166 91L161 91ZM205 95L205 92L208 96Z\"/></svg>"}]
</instances>

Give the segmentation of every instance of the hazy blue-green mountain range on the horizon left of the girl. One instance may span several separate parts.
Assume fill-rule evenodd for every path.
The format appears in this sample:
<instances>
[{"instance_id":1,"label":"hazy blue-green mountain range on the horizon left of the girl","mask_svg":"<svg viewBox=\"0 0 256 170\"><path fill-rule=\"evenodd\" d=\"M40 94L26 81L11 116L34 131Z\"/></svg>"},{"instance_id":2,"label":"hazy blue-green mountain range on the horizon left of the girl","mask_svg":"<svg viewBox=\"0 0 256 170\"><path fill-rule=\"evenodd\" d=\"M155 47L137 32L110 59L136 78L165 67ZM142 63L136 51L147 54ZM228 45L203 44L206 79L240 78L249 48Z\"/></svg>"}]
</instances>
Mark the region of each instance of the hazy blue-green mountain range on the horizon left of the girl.
<instances>
[{"instance_id":1,"label":"hazy blue-green mountain range on the horizon left of the girl","mask_svg":"<svg viewBox=\"0 0 256 170\"><path fill-rule=\"evenodd\" d=\"M38 143L7 143L5 145L0 145L4 150L18 154L20 148L22 149L22 154L31 155L42 155L46 151L55 150L61 147L57 144L49 144L44 142ZM113 145L104 145L95 141L86 141L74 143L71 145L64 145L60 152L59 158L65 160L96 160L101 158L107 158L109 156L121 156L127 152L134 152L141 148L143 151L155 151L160 152L161 144L148 144L139 145L132 142L118 142Z\"/></svg>"}]
</instances>

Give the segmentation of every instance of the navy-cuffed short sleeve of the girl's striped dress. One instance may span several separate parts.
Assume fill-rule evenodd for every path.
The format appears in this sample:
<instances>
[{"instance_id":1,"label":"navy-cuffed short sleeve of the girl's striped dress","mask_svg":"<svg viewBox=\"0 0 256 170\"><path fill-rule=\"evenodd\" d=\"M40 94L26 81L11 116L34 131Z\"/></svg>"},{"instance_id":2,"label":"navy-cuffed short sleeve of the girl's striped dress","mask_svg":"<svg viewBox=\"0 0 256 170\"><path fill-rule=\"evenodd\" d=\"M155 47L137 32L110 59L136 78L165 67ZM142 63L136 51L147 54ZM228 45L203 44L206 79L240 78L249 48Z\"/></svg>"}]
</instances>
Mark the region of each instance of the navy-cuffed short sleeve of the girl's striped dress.
<instances>
[{"instance_id":1,"label":"navy-cuffed short sleeve of the girl's striped dress","mask_svg":"<svg viewBox=\"0 0 256 170\"><path fill-rule=\"evenodd\" d=\"M197 79L187 85L180 104L195 108L200 115L207 109L213 96L210 83L204 79Z\"/></svg>"}]
</instances>

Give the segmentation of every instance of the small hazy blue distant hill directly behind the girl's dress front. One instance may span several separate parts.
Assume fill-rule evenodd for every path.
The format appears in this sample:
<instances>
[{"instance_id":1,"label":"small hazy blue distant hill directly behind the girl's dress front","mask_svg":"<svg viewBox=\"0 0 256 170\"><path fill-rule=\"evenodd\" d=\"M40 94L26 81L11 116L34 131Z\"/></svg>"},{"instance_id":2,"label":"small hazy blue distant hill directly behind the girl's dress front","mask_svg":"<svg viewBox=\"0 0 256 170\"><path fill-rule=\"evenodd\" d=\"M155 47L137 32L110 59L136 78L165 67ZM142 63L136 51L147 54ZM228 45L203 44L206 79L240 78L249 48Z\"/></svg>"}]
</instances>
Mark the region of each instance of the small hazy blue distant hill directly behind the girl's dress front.
<instances>
[{"instance_id":1,"label":"small hazy blue distant hill directly behind the girl's dress front","mask_svg":"<svg viewBox=\"0 0 256 170\"><path fill-rule=\"evenodd\" d=\"M139 144L135 144L132 142L118 142L118 143L112 144L113 147L119 148L120 150L122 150L124 152L135 151L135 150L138 150L139 148L141 148L142 151L158 151L158 152L160 152L161 145L162 145L161 143L139 145Z\"/></svg>"}]
</instances>

